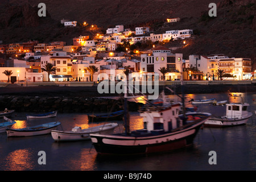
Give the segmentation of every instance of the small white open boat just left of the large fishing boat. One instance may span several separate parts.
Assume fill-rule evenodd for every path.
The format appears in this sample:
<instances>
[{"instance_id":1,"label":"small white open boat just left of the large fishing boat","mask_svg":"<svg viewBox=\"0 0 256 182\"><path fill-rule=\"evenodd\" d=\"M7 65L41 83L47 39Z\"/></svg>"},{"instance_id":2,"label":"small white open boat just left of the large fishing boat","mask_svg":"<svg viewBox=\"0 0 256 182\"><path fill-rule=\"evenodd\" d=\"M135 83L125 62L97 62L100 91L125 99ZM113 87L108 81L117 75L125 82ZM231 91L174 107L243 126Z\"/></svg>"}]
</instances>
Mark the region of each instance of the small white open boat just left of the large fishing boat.
<instances>
[{"instance_id":1,"label":"small white open boat just left of the large fishing boat","mask_svg":"<svg viewBox=\"0 0 256 182\"><path fill-rule=\"evenodd\" d=\"M88 129L81 129L81 127L76 126L71 131L52 130L51 135L57 142L88 140L90 139L90 134L112 134L117 126L117 123L107 123L100 126L90 127Z\"/></svg>"}]
</instances>

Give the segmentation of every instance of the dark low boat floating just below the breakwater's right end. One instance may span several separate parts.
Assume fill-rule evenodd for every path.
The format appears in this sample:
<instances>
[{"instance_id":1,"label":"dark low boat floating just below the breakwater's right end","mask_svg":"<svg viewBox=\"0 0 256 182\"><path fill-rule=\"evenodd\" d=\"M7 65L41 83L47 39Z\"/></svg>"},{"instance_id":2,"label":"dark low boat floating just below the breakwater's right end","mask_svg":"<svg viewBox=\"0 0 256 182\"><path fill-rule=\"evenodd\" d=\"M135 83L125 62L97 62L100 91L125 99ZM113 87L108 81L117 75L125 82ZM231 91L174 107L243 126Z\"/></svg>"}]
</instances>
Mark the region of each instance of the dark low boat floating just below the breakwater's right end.
<instances>
[{"instance_id":1,"label":"dark low boat floating just below the breakwater's right end","mask_svg":"<svg viewBox=\"0 0 256 182\"><path fill-rule=\"evenodd\" d=\"M114 121L114 120L122 120L122 119L123 119L123 110L115 111L113 113L104 114L104 115L88 114L89 122Z\"/></svg>"}]
</instances>

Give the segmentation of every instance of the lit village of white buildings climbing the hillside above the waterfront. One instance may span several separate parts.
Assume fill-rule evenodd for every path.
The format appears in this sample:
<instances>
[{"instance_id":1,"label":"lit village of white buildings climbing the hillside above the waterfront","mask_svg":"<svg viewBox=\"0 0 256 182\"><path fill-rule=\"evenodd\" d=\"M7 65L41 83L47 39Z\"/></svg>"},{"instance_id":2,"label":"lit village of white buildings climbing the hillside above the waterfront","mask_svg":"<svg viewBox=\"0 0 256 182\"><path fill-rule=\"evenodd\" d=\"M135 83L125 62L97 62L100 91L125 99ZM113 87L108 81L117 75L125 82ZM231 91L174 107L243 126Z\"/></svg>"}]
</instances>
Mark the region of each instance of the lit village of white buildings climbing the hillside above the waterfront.
<instances>
[{"instance_id":1,"label":"lit village of white buildings climbing the hillside above the waterfront","mask_svg":"<svg viewBox=\"0 0 256 182\"><path fill-rule=\"evenodd\" d=\"M180 18L167 19L166 23L179 23ZM61 20L64 27L76 27L76 21ZM97 25L83 23L92 31ZM74 36L73 44L66 42L0 44L1 82L43 81L102 81L122 80L132 73L134 80L143 75L158 73L159 80L250 80L256 71L251 70L248 57L228 57L221 52L212 55L172 53L187 45L193 30L168 30L155 34L150 27L125 28L117 25L108 28L105 34ZM180 40L180 47L165 47L164 44ZM147 49L140 49L146 45ZM150 47L150 48L148 48Z\"/></svg>"}]
</instances>

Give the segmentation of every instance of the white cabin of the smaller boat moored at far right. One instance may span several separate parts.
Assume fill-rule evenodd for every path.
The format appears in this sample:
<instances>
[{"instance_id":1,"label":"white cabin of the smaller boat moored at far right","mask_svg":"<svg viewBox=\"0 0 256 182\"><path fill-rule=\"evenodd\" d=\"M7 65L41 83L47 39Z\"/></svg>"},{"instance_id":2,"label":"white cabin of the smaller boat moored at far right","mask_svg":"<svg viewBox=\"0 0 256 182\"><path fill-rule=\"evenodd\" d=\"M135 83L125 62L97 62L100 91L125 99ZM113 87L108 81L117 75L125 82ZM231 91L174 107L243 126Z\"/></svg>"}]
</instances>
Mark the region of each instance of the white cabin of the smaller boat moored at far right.
<instances>
[{"instance_id":1,"label":"white cabin of the smaller boat moored at far right","mask_svg":"<svg viewBox=\"0 0 256 182\"><path fill-rule=\"evenodd\" d=\"M226 104L226 118L233 119L233 118L242 118L244 115L248 113L249 104L247 103L232 103Z\"/></svg>"}]
</instances>

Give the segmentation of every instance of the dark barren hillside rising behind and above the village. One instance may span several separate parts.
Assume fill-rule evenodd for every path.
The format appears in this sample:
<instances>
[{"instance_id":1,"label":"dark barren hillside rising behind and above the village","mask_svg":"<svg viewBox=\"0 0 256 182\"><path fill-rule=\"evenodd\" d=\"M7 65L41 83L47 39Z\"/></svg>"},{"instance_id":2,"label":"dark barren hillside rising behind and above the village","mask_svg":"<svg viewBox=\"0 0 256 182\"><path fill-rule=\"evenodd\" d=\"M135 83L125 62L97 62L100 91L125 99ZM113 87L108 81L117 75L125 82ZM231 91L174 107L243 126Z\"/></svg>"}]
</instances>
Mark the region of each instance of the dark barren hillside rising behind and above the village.
<instances>
[{"instance_id":1,"label":"dark barren hillside rising behind and above the village","mask_svg":"<svg viewBox=\"0 0 256 182\"><path fill-rule=\"evenodd\" d=\"M46 3L47 17L39 18L37 5ZM217 17L209 18L208 5L217 4ZM249 57L256 69L256 3L255 0L7 0L0 6L0 40L4 43L63 40L72 44L78 35L94 32L84 27L67 28L61 19L86 21L106 30L117 24L126 28L150 26L151 31L193 29L195 38L175 52L209 55L224 53L230 57ZM179 23L167 24L167 18L180 17ZM175 47L179 41L166 44Z\"/></svg>"}]
</instances>

